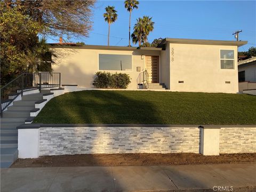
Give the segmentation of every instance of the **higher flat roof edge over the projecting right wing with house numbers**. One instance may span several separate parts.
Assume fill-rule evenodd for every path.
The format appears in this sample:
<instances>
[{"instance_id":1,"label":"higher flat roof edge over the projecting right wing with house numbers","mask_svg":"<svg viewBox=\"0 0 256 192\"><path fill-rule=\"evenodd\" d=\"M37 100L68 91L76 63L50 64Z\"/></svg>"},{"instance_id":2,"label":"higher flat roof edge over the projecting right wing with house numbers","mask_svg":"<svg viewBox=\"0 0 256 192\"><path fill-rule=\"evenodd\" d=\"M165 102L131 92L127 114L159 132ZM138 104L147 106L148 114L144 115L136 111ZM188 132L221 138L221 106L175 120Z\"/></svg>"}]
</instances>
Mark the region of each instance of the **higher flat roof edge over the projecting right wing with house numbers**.
<instances>
[{"instance_id":1,"label":"higher flat roof edge over the projecting right wing with house numbers","mask_svg":"<svg viewBox=\"0 0 256 192\"><path fill-rule=\"evenodd\" d=\"M247 44L247 41L223 41L223 40L208 40L208 39L165 38L157 47L162 47L167 42L168 43L178 43L178 44L233 45L233 46L238 46L238 47Z\"/></svg>"}]
</instances>

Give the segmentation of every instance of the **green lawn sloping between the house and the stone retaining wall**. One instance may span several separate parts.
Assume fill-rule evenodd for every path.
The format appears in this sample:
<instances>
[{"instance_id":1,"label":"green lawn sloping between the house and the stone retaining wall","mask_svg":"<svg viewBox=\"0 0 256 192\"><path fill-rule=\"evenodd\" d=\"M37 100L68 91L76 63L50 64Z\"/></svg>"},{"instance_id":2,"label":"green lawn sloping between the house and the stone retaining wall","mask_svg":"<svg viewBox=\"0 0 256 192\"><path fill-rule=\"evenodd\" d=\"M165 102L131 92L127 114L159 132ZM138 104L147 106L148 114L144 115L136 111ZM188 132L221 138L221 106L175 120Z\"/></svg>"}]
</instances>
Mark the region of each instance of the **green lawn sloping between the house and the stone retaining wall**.
<instances>
[{"instance_id":1,"label":"green lawn sloping between the house and the stone retaining wall","mask_svg":"<svg viewBox=\"0 0 256 192\"><path fill-rule=\"evenodd\" d=\"M34 123L256 124L256 97L155 91L70 92L49 101Z\"/></svg>"}]
</instances>

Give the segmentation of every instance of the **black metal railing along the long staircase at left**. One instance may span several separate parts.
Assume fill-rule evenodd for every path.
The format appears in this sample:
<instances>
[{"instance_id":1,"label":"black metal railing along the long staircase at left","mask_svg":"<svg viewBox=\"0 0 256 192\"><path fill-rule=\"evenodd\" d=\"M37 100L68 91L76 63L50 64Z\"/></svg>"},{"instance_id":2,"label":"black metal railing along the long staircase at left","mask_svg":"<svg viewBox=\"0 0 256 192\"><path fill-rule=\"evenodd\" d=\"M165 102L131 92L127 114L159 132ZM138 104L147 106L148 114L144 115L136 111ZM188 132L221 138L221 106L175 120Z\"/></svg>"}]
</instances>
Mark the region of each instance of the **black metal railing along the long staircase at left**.
<instances>
[{"instance_id":1,"label":"black metal railing along the long staircase at left","mask_svg":"<svg viewBox=\"0 0 256 192\"><path fill-rule=\"evenodd\" d=\"M23 92L60 87L60 73L23 73L1 87L1 115L4 109Z\"/></svg>"}]
</instances>

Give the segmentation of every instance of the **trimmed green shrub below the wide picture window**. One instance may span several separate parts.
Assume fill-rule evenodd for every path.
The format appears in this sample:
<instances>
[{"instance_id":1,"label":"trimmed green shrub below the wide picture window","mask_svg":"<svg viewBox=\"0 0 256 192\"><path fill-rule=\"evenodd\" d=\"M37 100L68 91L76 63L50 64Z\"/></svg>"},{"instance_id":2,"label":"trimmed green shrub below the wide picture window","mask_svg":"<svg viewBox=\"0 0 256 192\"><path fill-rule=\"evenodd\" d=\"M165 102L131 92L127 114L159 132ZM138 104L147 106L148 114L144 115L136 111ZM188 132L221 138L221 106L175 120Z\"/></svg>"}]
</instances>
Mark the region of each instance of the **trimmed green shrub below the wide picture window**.
<instances>
[{"instance_id":1,"label":"trimmed green shrub below the wide picture window","mask_svg":"<svg viewBox=\"0 0 256 192\"><path fill-rule=\"evenodd\" d=\"M110 74L109 72L98 71L95 75L93 86L96 88L127 89L128 85L131 83L131 78L128 74Z\"/></svg>"}]
</instances>

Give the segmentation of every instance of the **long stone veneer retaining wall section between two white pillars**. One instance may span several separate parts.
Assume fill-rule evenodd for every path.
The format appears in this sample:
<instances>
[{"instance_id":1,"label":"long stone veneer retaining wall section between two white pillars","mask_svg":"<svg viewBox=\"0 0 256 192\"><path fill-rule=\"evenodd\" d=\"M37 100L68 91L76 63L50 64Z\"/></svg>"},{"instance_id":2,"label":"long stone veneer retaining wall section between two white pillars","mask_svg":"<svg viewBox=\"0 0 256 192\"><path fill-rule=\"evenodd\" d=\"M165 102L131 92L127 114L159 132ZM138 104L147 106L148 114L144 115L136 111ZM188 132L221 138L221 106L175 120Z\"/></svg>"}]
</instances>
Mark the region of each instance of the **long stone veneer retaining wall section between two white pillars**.
<instances>
[{"instance_id":1,"label":"long stone veneer retaining wall section between two white pillars","mask_svg":"<svg viewBox=\"0 0 256 192\"><path fill-rule=\"evenodd\" d=\"M41 127L39 155L199 153L198 127Z\"/></svg>"}]
</instances>

